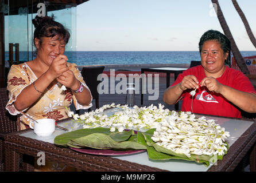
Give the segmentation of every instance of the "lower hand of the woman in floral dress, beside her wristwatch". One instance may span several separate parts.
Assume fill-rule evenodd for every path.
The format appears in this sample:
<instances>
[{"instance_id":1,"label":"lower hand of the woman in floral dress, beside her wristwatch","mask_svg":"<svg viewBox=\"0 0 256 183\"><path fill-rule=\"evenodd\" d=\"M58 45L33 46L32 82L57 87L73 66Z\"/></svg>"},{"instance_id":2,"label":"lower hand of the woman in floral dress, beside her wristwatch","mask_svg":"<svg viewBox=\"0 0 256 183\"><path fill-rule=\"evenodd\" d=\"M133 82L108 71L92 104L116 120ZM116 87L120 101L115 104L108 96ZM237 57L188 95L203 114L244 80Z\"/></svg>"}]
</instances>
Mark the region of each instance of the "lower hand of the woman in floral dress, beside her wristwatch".
<instances>
[{"instance_id":1,"label":"lower hand of the woman in floral dress, beside her wristwatch","mask_svg":"<svg viewBox=\"0 0 256 183\"><path fill-rule=\"evenodd\" d=\"M80 84L71 70L62 73L60 77L57 78L57 81L72 90L76 90Z\"/></svg>"}]
</instances>

